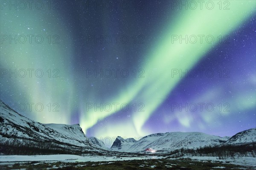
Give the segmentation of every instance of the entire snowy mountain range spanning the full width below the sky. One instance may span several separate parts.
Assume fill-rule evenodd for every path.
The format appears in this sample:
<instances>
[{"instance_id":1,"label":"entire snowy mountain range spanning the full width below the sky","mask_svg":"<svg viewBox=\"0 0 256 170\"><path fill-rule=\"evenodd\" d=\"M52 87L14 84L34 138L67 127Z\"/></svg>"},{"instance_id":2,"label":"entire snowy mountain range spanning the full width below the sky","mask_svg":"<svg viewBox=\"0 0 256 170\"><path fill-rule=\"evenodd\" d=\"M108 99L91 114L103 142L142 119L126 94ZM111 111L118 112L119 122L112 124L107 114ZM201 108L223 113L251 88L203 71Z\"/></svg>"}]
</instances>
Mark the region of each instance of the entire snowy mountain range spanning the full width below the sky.
<instances>
[{"instance_id":1,"label":"entire snowy mountain range spanning the full width below the sky","mask_svg":"<svg viewBox=\"0 0 256 170\"><path fill-rule=\"evenodd\" d=\"M117 136L111 148L96 137L87 137L79 124L35 122L0 100L0 154L86 153L118 151L126 153L168 153L173 150L256 143L256 128L235 135L215 136L202 132L153 133L124 139ZM23 148L23 150L20 150ZM25 150L25 151L24 151ZM38 151L37 153L37 150Z\"/></svg>"}]
</instances>

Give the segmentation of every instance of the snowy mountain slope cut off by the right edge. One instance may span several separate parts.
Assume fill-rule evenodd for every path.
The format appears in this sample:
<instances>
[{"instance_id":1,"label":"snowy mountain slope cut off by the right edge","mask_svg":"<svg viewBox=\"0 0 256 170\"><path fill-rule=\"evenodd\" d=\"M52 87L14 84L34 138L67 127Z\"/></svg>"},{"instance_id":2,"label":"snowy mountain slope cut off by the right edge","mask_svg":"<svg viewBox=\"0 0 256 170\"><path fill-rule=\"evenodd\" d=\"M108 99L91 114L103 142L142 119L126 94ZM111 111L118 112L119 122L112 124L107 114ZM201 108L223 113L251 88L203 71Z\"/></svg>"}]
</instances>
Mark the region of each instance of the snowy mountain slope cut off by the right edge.
<instances>
[{"instance_id":1,"label":"snowy mountain slope cut off by the right edge","mask_svg":"<svg viewBox=\"0 0 256 170\"><path fill-rule=\"evenodd\" d=\"M256 128L248 129L236 133L230 139L227 140L224 144L248 144L256 142Z\"/></svg>"}]
</instances>

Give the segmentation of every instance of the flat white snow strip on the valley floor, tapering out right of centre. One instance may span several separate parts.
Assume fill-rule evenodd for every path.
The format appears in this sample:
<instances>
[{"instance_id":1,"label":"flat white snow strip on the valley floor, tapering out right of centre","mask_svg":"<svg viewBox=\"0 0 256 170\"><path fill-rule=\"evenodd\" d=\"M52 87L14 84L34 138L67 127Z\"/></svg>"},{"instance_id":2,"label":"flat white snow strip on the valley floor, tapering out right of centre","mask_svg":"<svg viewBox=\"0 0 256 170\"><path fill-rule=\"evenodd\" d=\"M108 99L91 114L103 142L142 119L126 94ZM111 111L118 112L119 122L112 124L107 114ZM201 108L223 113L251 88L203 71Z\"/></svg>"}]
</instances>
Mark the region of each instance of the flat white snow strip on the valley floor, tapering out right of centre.
<instances>
[{"instance_id":1,"label":"flat white snow strip on the valley floor, tapering out right of centre","mask_svg":"<svg viewBox=\"0 0 256 170\"><path fill-rule=\"evenodd\" d=\"M78 155L8 155L0 156L0 165L9 164L11 162L26 162L26 161L63 161L63 162L87 162L87 161L122 161L134 159L163 159L163 156L78 156Z\"/></svg>"}]
</instances>

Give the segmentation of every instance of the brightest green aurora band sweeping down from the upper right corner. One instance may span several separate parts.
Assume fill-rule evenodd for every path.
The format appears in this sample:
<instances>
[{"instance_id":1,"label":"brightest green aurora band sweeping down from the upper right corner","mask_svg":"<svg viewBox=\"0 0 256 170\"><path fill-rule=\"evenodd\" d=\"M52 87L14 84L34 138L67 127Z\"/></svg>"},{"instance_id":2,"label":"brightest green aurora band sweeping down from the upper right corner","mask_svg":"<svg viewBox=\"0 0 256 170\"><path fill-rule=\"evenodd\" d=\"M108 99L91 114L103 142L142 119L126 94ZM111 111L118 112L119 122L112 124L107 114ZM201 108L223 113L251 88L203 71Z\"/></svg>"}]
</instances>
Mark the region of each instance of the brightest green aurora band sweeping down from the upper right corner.
<instances>
[{"instance_id":1,"label":"brightest green aurora band sweeping down from the upper right corner","mask_svg":"<svg viewBox=\"0 0 256 170\"><path fill-rule=\"evenodd\" d=\"M141 68L145 70L145 78L139 79L130 85L130 88L120 93L116 98L109 100L109 103L132 103L134 99L142 101L145 105L144 112L136 112L132 115L134 125L126 124L127 129L134 133L129 133L121 128L122 124L113 125L115 133L111 130L99 130L98 136L111 136L116 133L124 134L127 137L137 134L143 136L148 134L142 127L155 109L166 99L166 96L175 88L181 80L180 77L172 77L171 68L178 70L191 69L209 50L218 45L218 36L224 36L236 29L239 24L247 19L251 10L255 9L253 1L233 1L230 3L230 10L183 10L175 21L172 21L163 31L164 40L159 40L152 51L148 52L148 59ZM180 43L179 40L173 41L172 35L212 35L215 40L208 43L203 37L202 43L198 40L196 43ZM209 39L210 41L210 39ZM163 74L164 73L164 74ZM253 107L253 104L250 105ZM118 107L117 107L118 108ZM84 108L85 110L85 108ZM80 125L83 129L88 129L95 125L99 120L115 113L112 109L109 112L83 113L80 119ZM187 125L188 122L183 122ZM120 129L120 130L119 130ZM112 133L112 134L110 134Z\"/></svg>"}]
</instances>

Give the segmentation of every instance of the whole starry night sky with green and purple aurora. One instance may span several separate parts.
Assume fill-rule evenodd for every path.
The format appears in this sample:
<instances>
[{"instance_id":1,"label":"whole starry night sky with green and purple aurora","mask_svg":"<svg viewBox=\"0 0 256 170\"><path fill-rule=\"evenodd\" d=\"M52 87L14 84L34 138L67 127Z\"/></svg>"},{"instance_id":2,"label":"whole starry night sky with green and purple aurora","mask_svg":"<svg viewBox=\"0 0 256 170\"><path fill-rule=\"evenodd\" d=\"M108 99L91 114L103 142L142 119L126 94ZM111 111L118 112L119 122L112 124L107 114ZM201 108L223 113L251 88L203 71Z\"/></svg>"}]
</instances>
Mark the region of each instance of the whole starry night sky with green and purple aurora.
<instances>
[{"instance_id":1,"label":"whole starry night sky with green and purple aurora","mask_svg":"<svg viewBox=\"0 0 256 170\"><path fill-rule=\"evenodd\" d=\"M111 139L256 126L256 1L10 2L0 98L24 116Z\"/></svg>"}]
</instances>

